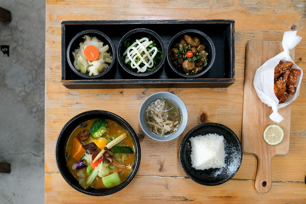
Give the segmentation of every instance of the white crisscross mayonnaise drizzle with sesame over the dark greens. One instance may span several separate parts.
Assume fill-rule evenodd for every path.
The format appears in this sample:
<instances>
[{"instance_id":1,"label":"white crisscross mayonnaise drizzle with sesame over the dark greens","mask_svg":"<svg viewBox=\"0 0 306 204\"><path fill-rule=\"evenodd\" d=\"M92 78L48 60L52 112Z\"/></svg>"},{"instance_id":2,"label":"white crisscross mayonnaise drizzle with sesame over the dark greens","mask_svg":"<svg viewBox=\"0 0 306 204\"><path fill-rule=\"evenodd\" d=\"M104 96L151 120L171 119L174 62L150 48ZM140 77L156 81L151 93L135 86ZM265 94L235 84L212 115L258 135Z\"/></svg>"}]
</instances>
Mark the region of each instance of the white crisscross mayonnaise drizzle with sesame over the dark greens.
<instances>
[{"instance_id":1,"label":"white crisscross mayonnaise drizzle with sesame over the dark greens","mask_svg":"<svg viewBox=\"0 0 306 204\"><path fill-rule=\"evenodd\" d=\"M137 68L138 69L137 73L145 72L147 68L152 68L154 65L153 58L157 54L156 47L152 47L149 51L147 51L147 46L151 45L152 43L153 41L149 41L148 38L142 38L140 40L136 39L136 42L133 43L131 46L129 46L123 53L123 55L127 54L124 61L125 64L127 64L128 61L131 61L131 67L133 69ZM138 45L134 47L134 45L136 44ZM141 56L141 53L143 51L144 51L144 56ZM150 56L149 53L151 53L152 51L154 51L154 53L152 54L152 56ZM135 59L137 58L137 56L140 57L140 60L136 63ZM146 57L148 58L148 62L146 61ZM141 62L144 63L143 67L139 66Z\"/></svg>"}]
</instances>

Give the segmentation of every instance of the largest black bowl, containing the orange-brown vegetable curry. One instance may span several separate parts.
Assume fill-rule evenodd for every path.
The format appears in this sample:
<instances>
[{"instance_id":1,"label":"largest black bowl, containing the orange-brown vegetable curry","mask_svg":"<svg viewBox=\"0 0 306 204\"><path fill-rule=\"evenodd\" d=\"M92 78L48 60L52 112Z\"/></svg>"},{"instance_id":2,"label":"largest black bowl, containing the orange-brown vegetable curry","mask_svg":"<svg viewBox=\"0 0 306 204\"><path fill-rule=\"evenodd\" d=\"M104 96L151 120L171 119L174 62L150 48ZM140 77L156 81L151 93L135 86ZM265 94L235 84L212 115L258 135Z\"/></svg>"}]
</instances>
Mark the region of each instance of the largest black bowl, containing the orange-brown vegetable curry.
<instances>
[{"instance_id":1,"label":"largest black bowl, containing the orange-brown vegetable curry","mask_svg":"<svg viewBox=\"0 0 306 204\"><path fill-rule=\"evenodd\" d=\"M131 138L133 140L134 146L135 146L135 160L134 165L129 172L129 175L126 177L126 179L119 185L111 187L111 188L87 188L84 189L80 186L78 181L73 177L70 170L67 167L66 159L65 159L65 145L67 143L67 140L69 138L69 135L71 135L72 131L80 125L84 121L88 121L90 119L94 118L103 118L103 119L111 119L113 121L116 121L121 127L125 129L126 132L129 132L131 135ZM91 110L86 111L84 113L80 113L77 116L73 117L70 121L68 121L65 126L62 128L61 132L58 135L58 139L55 143L55 161L56 165L58 166L58 170L65 179L65 181L74 189L77 191L80 191L87 195L93 195L93 196L104 196L104 195L110 195L113 193L116 193L123 189L125 186L127 186L131 180L134 178L139 164L140 164L140 143L138 140L138 137L133 130L133 128L121 117L114 113L110 113L108 111L104 110Z\"/></svg>"}]
</instances>

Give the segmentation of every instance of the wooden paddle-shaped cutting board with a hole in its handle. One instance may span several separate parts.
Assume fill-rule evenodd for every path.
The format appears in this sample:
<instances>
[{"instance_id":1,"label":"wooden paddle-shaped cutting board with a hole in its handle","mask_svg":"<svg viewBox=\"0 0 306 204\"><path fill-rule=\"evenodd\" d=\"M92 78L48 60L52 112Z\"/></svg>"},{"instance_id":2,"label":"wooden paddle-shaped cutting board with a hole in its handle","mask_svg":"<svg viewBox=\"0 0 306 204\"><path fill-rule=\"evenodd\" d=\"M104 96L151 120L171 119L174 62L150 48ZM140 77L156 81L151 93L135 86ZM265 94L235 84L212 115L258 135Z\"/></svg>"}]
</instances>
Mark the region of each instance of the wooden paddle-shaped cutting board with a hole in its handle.
<instances>
[{"instance_id":1,"label":"wooden paddle-shaped cutting board with a hole in its handle","mask_svg":"<svg viewBox=\"0 0 306 204\"><path fill-rule=\"evenodd\" d=\"M287 154L289 150L291 104L278 109L284 120L280 123L271 121L271 107L260 101L255 91L253 80L256 70L265 61L282 52L282 42L250 41L245 49L244 98L241 143L244 153L257 157L255 188L260 193L271 190L271 160L276 154ZM290 50L294 59L294 49ZM263 139L263 131L270 124L278 124L284 130L284 139L278 145L268 145Z\"/></svg>"}]
</instances>

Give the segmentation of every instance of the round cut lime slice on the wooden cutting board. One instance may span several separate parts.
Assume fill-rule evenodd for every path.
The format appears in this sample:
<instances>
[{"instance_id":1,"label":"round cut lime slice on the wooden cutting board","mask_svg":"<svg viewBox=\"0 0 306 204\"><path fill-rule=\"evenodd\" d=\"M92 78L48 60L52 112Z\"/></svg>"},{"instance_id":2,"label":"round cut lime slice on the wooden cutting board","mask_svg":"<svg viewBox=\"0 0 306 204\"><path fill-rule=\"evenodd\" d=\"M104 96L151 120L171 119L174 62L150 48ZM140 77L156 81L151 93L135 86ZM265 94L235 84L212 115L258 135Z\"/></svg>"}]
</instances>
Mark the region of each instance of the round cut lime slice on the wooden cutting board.
<instances>
[{"instance_id":1,"label":"round cut lime slice on the wooden cutting board","mask_svg":"<svg viewBox=\"0 0 306 204\"><path fill-rule=\"evenodd\" d=\"M284 131L278 125L269 125L265 131L263 131L263 139L269 145L277 145L282 142L284 138Z\"/></svg>"}]
</instances>

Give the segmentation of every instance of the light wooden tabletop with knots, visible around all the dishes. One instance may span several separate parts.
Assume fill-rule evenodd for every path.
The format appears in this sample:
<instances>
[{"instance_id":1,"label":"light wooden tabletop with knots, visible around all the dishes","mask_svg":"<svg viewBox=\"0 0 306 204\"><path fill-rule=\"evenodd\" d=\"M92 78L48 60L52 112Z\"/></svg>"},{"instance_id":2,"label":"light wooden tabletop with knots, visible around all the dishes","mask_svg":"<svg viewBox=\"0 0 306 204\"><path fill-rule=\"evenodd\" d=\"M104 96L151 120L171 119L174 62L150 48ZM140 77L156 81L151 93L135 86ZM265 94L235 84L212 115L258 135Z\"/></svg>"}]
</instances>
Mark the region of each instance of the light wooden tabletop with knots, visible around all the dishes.
<instances>
[{"instance_id":1,"label":"light wooden tabletop with knots, visible around all the dishes","mask_svg":"<svg viewBox=\"0 0 306 204\"><path fill-rule=\"evenodd\" d=\"M283 32L298 28L303 39L295 49L295 62L306 71L305 1L58 1L46 4L45 88L45 202L46 203L144 203L144 202L306 202L306 75L300 96L292 103L289 154L272 159L272 189L260 194L254 188L257 161L243 154L241 167L228 182L207 187L189 179L181 169L178 150L184 135L206 122L231 128L241 138L245 45L249 40L281 41ZM235 20L236 83L228 88L170 89L67 89L61 84L62 20ZM84 195L70 187L58 172L54 146L63 125L87 110L102 109L123 117L137 134L141 103L149 95L169 91L188 109L188 124L177 139L158 142L140 139L141 163L136 177L118 193L106 197ZM300 201L298 201L300 199ZM303 199L303 200L302 200ZM297 201L296 201L297 200Z\"/></svg>"}]
</instances>

